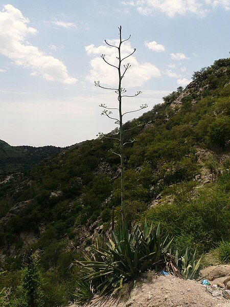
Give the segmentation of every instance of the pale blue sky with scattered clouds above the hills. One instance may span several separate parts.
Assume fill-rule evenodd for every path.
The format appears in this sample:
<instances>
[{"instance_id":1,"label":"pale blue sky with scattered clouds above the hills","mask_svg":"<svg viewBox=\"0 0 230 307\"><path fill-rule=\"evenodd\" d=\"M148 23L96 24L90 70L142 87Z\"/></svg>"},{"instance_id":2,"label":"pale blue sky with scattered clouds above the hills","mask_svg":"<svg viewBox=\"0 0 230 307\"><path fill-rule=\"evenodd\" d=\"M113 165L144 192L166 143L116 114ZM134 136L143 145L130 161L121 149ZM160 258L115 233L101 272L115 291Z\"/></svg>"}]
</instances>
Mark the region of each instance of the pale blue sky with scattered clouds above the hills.
<instances>
[{"instance_id":1,"label":"pale blue sky with scattered clouds above the hills","mask_svg":"<svg viewBox=\"0 0 230 307\"><path fill-rule=\"evenodd\" d=\"M124 112L185 87L194 71L229 56L230 0L0 0L0 139L10 145L68 146L116 127L99 105L117 106L122 55ZM124 63L127 63L124 61ZM131 113L131 120L142 113ZM114 114L115 116L115 114Z\"/></svg>"}]
</instances>

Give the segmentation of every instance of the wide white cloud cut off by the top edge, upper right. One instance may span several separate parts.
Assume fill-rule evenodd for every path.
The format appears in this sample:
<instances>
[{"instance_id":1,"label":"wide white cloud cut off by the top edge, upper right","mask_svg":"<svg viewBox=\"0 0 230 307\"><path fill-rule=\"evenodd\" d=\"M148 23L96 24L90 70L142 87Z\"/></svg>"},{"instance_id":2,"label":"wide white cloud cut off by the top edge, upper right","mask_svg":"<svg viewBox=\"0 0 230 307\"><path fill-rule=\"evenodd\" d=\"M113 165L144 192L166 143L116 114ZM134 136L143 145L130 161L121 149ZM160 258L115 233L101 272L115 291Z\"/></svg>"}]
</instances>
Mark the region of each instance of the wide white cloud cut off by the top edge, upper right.
<instances>
[{"instance_id":1,"label":"wide white cloud cut off by the top edge, upper right","mask_svg":"<svg viewBox=\"0 0 230 307\"><path fill-rule=\"evenodd\" d=\"M135 7L143 15L160 11L169 17L187 13L203 17L218 6L230 10L229 0L133 0L122 1L122 4Z\"/></svg>"}]
</instances>

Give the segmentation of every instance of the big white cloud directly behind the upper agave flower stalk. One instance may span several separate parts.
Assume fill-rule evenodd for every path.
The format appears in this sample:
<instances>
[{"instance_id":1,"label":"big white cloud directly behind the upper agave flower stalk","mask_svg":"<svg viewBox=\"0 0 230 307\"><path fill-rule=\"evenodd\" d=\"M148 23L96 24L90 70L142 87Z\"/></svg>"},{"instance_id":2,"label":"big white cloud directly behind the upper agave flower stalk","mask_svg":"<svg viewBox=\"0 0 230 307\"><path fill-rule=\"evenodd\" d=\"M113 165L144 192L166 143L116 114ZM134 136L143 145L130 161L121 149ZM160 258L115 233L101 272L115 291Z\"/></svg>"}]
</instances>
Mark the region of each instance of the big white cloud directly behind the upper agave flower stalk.
<instances>
[{"instance_id":1,"label":"big white cloud directly behind the upper agave flower stalk","mask_svg":"<svg viewBox=\"0 0 230 307\"><path fill-rule=\"evenodd\" d=\"M112 45L116 45L118 40L112 39L108 40L108 42ZM90 60L91 69L89 75L86 76L86 79L91 82L99 80L101 84L108 86L117 86L118 73L116 69L106 64L99 56L101 54L105 54L105 59L109 63L118 65L118 60L116 58L118 56L117 49L105 45L95 47L93 44L91 44L86 46L85 50L88 55L94 56L94 58ZM124 58L132 52L133 49L131 48L130 42L124 42L122 45L122 57ZM123 87L141 86L145 81L152 77L160 77L160 70L152 63L140 63L133 55L125 60L124 64L127 62L131 64L131 68L128 69L127 73L125 74Z\"/></svg>"}]
</instances>

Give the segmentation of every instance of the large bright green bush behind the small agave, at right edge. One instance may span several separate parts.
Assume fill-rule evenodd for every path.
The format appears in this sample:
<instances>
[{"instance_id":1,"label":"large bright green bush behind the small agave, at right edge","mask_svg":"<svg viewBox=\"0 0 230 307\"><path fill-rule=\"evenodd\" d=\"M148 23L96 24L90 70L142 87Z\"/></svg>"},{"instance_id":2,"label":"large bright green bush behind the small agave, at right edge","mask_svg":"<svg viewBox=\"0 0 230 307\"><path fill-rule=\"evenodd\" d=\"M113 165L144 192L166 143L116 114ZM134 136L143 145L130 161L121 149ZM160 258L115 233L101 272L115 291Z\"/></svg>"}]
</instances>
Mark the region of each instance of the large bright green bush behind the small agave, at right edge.
<instances>
[{"instance_id":1,"label":"large bright green bush behind the small agave, at right edge","mask_svg":"<svg viewBox=\"0 0 230 307\"><path fill-rule=\"evenodd\" d=\"M175 198L172 203L151 208L147 220L154 225L160 221L167 233L175 236L179 249L190 244L199 253L208 252L220 237L229 238L229 198L225 191L229 173L223 176L214 187L198 190L195 199Z\"/></svg>"}]
</instances>

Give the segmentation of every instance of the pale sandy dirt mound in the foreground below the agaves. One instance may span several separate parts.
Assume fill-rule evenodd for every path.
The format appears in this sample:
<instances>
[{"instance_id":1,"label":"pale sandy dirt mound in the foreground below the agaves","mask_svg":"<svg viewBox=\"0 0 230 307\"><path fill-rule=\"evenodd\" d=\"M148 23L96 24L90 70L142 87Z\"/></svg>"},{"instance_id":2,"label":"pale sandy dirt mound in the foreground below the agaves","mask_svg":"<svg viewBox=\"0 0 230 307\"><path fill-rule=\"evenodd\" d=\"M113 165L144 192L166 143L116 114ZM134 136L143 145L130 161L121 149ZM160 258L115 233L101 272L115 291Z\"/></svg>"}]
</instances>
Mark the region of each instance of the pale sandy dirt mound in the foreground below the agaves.
<instances>
[{"instance_id":1,"label":"pale sandy dirt mound in the foreground below the agaves","mask_svg":"<svg viewBox=\"0 0 230 307\"><path fill-rule=\"evenodd\" d=\"M74 307L76 305L72 305ZM230 307L230 300L222 295L213 297L205 286L195 280L173 276L158 276L136 287L128 301L95 298L90 307Z\"/></svg>"}]
</instances>

